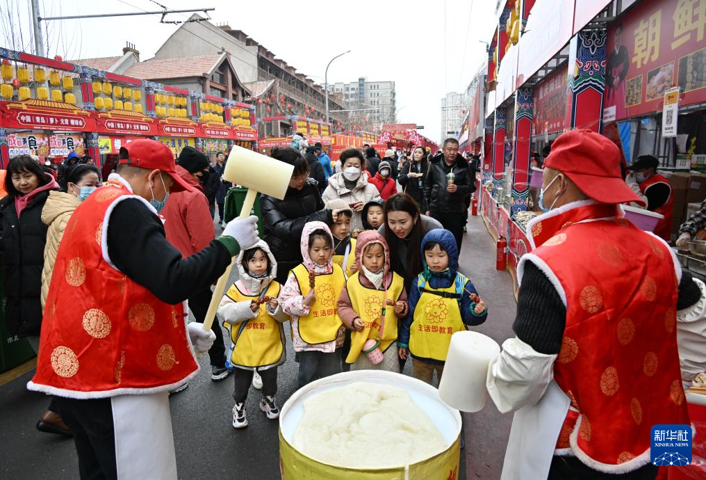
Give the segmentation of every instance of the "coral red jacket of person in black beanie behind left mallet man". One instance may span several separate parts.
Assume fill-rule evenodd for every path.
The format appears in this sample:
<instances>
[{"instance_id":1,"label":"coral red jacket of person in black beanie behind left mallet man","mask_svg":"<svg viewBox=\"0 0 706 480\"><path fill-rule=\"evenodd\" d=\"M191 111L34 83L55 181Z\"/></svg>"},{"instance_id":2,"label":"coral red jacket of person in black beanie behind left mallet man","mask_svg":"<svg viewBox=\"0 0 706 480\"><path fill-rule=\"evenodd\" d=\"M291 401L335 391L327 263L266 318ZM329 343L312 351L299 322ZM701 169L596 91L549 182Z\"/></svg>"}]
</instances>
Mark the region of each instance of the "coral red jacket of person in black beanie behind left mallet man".
<instances>
[{"instance_id":1,"label":"coral red jacket of person in black beanie behind left mallet man","mask_svg":"<svg viewBox=\"0 0 706 480\"><path fill-rule=\"evenodd\" d=\"M187 258L207 247L215 238L215 230L201 182L181 165L177 165L177 174L192 189L169 194L162 216L167 241Z\"/></svg>"}]
</instances>

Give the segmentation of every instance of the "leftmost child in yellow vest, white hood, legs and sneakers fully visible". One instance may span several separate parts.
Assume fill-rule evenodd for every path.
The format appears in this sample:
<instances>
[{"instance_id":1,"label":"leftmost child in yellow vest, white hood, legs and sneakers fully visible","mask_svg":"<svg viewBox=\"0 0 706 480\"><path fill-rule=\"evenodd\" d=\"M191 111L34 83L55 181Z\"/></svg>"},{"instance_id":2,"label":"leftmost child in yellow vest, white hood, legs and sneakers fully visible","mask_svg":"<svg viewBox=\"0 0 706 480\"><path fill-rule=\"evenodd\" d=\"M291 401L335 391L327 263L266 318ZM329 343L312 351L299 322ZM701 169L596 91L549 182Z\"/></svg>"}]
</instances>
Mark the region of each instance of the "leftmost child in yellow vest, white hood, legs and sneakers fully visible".
<instances>
[{"instance_id":1,"label":"leftmost child in yellow vest, white hood, legs and sneakers fully visible","mask_svg":"<svg viewBox=\"0 0 706 480\"><path fill-rule=\"evenodd\" d=\"M261 411L270 419L280 416L275 404L277 367L287 359L281 322L289 317L277 301L277 262L264 240L240 252L236 266L239 279L223 295L217 315L233 342L229 352L235 379L233 427L244 428L248 426L245 401L256 369L262 378Z\"/></svg>"}]
</instances>

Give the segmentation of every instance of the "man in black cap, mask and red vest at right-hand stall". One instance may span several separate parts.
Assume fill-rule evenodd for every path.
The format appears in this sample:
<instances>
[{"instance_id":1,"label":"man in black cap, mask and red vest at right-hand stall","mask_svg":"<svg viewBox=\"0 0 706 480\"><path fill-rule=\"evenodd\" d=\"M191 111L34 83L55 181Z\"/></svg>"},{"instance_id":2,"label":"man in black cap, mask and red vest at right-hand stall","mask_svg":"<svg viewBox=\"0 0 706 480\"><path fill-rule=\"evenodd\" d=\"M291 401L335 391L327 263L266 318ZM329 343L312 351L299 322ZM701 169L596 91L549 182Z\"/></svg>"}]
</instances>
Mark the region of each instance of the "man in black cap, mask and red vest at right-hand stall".
<instances>
[{"instance_id":1,"label":"man in black cap, mask and red vest at right-hand stall","mask_svg":"<svg viewBox=\"0 0 706 480\"><path fill-rule=\"evenodd\" d=\"M651 155L641 155L628 167L632 173L626 182L635 194L647 204L647 210L661 213L664 218L657 223L654 234L669 240L671 234L671 209L674 205L674 194L671 185L657 172L659 160Z\"/></svg>"}]
</instances>

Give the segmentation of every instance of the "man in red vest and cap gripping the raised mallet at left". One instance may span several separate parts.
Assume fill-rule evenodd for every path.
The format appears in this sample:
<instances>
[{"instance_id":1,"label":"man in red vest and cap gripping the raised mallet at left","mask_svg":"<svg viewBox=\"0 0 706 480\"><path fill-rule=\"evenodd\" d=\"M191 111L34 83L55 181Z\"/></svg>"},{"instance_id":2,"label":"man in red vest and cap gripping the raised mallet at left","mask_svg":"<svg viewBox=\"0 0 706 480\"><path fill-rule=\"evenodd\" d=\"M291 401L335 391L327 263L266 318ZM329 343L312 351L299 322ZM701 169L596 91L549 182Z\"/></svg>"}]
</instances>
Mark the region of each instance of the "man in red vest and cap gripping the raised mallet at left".
<instances>
[{"instance_id":1,"label":"man in red vest and cap gripping the raised mallet at left","mask_svg":"<svg viewBox=\"0 0 706 480\"><path fill-rule=\"evenodd\" d=\"M28 388L56 397L81 479L177 478L169 390L196 375L192 349L215 338L186 325L182 303L257 241L255 216L234 220L182 259L159 213L189 188L167 146L136 140L66 226Z\"/></svg>"}]
</instances>

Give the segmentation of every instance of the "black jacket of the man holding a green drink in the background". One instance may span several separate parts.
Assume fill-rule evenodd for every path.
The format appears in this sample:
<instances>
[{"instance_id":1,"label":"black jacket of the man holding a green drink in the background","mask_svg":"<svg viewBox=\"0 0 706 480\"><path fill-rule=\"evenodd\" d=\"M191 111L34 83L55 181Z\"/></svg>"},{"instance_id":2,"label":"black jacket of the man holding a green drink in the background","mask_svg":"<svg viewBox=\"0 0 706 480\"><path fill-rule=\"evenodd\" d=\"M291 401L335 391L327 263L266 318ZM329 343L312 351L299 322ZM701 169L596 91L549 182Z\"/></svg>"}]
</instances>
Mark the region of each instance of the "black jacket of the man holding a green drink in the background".
<instances>
[{"instance_id":1,"label":"black jacket of the man holding a green drink in the background","mask_svg":"<svg viewBox=\"0 0 706 480\"><path fill-rule=\"evenodd\" d=\"M446 190L446 175L453 168L454 183L457 190L449 193ZM465 197L476 191L472 178L472 171L468 163L460 155L456 156L455 163L449 167L439 153L433 156L429 163L429 170L424 179L424 199L430 212L436 213L462 213L465 211Z\"/></svg>"}]
</instances>

